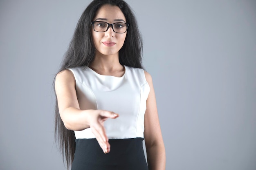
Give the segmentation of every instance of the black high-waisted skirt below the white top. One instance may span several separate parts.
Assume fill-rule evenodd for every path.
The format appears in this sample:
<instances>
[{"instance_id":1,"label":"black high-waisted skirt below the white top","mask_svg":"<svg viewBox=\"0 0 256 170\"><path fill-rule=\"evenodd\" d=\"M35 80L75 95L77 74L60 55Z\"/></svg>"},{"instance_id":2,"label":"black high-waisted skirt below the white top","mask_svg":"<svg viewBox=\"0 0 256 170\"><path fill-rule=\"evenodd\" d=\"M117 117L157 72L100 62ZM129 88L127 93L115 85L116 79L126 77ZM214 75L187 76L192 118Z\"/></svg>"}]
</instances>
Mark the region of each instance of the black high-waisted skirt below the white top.
<instances>
[{"instance_id":1,"label":"black high-waisted skirt below the white top","mask_svg":"<svg viewBox=\"0 0 256 170\"><path fill-rule=\"evenodd\" d=\"M76 139L71 170L148 170L143 138L109 139L105 154L96 139Z\"/></svg>"}]
</instances>

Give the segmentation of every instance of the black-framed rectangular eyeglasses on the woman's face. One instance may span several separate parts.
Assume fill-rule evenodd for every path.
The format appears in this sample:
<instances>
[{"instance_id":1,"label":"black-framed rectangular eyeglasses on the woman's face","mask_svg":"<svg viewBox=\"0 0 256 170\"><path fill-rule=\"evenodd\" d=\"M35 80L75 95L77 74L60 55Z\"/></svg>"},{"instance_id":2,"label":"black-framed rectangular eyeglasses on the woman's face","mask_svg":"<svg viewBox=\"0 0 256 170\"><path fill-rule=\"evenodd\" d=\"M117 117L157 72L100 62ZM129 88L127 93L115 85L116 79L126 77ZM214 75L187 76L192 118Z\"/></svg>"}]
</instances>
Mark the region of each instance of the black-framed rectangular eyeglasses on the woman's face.
<instances>
[{"instance_id":1,"label":"black-framed rectangular eyeglasses on the woman's face","mask_svg":"<svg viewBox=\"0 0 256 170\"><path fill-rule=\"evenodd\" d=\"M130 24L124 23L124 22L116 22L113 24L109 24L108 22L103 22L103 21L93 21L92 25L93 25L94 31L100 32L100 33L108 31L110 26L112 27L115 33L125 33Z\"/></svg>"}]
</instances>

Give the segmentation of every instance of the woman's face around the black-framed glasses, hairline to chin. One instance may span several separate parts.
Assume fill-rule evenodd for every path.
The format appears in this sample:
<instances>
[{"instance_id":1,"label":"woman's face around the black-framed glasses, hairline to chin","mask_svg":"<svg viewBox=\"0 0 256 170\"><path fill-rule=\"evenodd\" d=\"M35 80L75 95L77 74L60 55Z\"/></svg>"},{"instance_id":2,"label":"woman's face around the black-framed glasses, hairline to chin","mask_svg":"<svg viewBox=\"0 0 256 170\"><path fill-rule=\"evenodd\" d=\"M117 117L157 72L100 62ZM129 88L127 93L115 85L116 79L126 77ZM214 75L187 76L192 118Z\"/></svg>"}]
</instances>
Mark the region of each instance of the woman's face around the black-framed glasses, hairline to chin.
<instances>
[{"instance_id":1,"label":"woman's face around the black-framed glasses, hairline to chin","mask_svg":"<svg viewBox=\"0 0 256 170\"><path fill-rule=\"evenodd\" d=\"M105 4L98 9L93 21L103 21L110 24L116 22L125 23L126 18L119 7ZM96 32L92 27L92 40L96 55L118 55L119 50L124 45L125 38L126 33L115 33L111 26L106 32Z\"/></svg>"}]
</instances>

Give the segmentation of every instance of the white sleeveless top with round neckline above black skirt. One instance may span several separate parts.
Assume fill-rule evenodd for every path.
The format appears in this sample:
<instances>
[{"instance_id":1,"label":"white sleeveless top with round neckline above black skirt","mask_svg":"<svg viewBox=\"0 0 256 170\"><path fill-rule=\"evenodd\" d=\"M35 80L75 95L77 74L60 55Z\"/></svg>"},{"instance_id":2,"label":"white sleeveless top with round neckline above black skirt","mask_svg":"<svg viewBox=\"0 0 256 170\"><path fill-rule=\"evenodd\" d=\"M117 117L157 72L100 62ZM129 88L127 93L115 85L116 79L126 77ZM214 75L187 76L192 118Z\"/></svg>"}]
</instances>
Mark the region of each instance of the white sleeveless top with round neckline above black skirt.
<instances>
[{"instance_id":1,"label":"white sleeveless top with round neckline above black skirt","mask_svg":"<svg viewBox=\"0 0 256 170\"><path fill-rule=\"evenodd\" d=\"M76 79L81 110L108 110L119 114L104 122L109 139L144 137L144 114L150 91L144 70L125 67L122 77L100 75L89 67L70 68ZM74 131L76 139L95 138L90 128Z\"/></svg>"}]
</instances>

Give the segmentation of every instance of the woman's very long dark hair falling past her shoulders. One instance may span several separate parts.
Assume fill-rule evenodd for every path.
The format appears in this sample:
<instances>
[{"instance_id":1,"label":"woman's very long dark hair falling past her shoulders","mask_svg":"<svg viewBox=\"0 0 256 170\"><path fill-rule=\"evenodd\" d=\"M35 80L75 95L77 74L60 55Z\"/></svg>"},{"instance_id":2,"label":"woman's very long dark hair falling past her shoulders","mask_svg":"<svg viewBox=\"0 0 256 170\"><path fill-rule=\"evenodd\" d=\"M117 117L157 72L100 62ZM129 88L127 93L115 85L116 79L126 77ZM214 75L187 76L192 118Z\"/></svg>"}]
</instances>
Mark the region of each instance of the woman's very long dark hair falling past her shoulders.
<instances>
[{"instance_id":1,"label":"woman's very long dark hair falling past her shoulders","mask_svg":"<svg viewBox=\"0 0 256 170\"><path fill-rule=\"evenodd\" d=\"M91 36L91 22L97 10L104 4L111 4L119 7L124 13L126 22L130 24L124 45L119 51L119 62L122 65L135 68L142 67L142 39L137 26L137 21L130 8L124 0L93 0L81 15L70 45L64 55L63 62L58 71L78 66L89 66L94 60L95 49ZM55 83L55 77L54 77ZM54 89L55 90L55 89ZM56 97L55 108L55 140L67 163L67 169L71 166L75 152L75 135L73 130L65 128L61 120Z\"/></svg>"}]
</instances>

